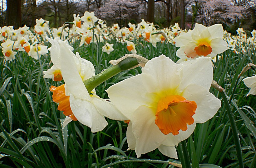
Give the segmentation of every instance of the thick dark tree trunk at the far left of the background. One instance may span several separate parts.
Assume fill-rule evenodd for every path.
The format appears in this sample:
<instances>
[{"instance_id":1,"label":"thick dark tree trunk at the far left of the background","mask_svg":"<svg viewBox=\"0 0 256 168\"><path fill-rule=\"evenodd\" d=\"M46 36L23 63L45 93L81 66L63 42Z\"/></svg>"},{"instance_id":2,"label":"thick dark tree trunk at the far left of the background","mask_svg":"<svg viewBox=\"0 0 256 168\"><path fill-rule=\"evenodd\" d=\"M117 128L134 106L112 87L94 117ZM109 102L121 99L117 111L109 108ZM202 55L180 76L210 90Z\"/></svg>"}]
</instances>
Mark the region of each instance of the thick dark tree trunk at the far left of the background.
<instances>
[{"instance_id":1,"label":"thick dark tree trunk at the far left of the background","mask_svg":"<svg viewBox=\"0 0 256 168\"><path fill-rule=\"evenodd\" d=\"M21 0L7 1L6 24L15 29L21 26Z\"/></svg>"}]
</instances>

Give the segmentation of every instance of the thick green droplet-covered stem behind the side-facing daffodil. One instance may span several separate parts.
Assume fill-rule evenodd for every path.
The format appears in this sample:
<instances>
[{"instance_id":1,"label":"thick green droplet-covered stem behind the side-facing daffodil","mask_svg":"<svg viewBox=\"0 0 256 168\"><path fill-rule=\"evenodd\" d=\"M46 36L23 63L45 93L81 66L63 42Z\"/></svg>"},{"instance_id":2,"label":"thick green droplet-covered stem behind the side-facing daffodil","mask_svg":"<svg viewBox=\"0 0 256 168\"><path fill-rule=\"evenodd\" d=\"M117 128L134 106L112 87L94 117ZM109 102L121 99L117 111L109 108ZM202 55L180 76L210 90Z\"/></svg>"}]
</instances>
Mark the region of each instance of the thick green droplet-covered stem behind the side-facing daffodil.
<instances>
[{"instance_id":1,"label":"thick green droplet-covered stem behind the side-facing daffodil","mask_svg":"<svg viewBox=\"0 0 256 168\"><path fill-rule=\"evenodd\" d=\"M118 64L114 65L111 68L105 69L101 73L83 81L87 91L91 93L91 91L99 86L101 83L105 82L109 78L115 76L119 72L128 70L130 68L135 67L138 65L138 61L136 58L127 57L120 61Z\"/></svg>"}]
</instances>

